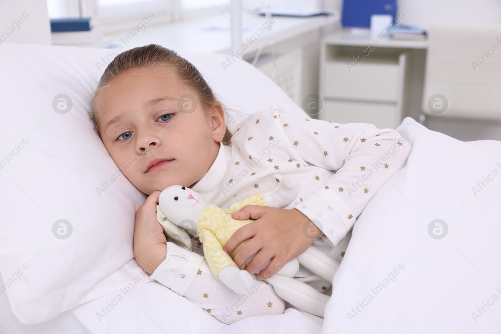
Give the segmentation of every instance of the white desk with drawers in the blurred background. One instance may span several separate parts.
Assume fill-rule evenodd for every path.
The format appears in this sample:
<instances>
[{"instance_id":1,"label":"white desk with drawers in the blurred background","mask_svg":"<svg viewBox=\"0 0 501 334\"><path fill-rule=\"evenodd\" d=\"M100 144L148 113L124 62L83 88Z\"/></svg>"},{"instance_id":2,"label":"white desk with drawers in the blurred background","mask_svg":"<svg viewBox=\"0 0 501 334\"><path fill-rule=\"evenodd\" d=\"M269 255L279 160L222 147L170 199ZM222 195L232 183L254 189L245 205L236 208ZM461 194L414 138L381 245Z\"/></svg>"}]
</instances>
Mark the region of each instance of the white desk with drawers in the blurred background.
<instances>
[{"instance_id":1,"label":"white desk with drawers in the blurred background","mask_svg":"<svg viewBox=\"0 0 501 334\"><path fill-rule=\"evenodd\" d=\"M428 42L373 39L369 30L324 37L320 54L319 119L395 129L420 114Z\"/></svg>"}]
</instances>

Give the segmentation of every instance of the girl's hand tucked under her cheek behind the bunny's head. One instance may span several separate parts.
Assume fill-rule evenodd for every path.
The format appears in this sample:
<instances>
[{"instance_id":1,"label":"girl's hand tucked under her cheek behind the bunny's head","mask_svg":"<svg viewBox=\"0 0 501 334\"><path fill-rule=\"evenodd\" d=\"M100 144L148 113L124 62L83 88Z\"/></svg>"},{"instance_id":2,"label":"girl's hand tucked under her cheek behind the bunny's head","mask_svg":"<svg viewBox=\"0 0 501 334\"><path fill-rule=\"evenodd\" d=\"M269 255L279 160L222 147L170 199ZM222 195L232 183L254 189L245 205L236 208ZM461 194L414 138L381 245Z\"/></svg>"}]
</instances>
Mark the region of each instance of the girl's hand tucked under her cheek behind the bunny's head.
<instances>
[{"instance_id":1,"label":"girl's hand tucked under her cheek behind the bunny's head","mask_svg":"<svg viewBox=\"0 0 501 334\"><path fill-rule=\"evenodd\" d=\"M148 274L152 274L165 259L167 238L156 219L156 205L161 191L153 191L136 212L134 227L134 256Z\"/></svg>"}]
</instances>

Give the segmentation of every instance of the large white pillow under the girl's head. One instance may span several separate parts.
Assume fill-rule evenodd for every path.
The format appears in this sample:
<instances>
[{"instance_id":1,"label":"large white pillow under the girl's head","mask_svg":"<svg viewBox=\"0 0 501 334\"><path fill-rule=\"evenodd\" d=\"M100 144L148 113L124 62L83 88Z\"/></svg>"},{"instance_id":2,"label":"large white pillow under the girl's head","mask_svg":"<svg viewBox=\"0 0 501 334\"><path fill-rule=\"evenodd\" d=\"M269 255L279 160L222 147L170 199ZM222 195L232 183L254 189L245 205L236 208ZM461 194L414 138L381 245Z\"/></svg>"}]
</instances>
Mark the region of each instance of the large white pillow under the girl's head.
<instances>
[{"instance_id":1,"label":"large white pillow under the girl's head","mask_svg":"<svg viewBox=\"0 0 501 334\"><path fill-rule=\"evenodd\" d=\"M135 212L146 195L117 176L118 167L87 116L104 71L99 64L110 54L42 45L0 48L0 274L5 282L0 294L7 292L23 323L46 321L118 290L137 275L133 260L116 270L133 258ZM223 103L243 112L235 114L230 128L277 103L308 117L243 61L225 72L224 55L184 56ZM58 109L58 104L65 107L61 94L72 102L67 113Z\"/></svg>"}]
</instances>

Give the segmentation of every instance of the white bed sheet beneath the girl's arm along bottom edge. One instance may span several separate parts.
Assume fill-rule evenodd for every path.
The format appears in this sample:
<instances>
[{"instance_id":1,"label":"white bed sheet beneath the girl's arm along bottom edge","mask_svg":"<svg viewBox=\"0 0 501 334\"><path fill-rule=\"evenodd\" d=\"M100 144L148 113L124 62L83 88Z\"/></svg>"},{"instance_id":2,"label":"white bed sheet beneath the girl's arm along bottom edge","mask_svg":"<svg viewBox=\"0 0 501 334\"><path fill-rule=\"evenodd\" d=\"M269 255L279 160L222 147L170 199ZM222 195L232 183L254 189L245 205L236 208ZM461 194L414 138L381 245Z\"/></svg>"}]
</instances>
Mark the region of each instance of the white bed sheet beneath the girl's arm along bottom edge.
<instances>
[{"instance_id":1,"label":"white bed sheet beneath the girl's arm along bottom edge","mask_svg":"<svg viewBox=\"0 0 501 334\"><path fill-rule=\"evenodd\" d=\"M123 300L115 301L117 294ZM108 306L109 312L102 307ZM240 333L263 332L317 334L323 319L288 308L284 314L264 315L225 324L203 309L191 304L157 281L137 285L125 295L121 291L91 300L55 318L37 324L21 324L12 314L7 298L0 297L0 312L7 323L0 324L0 332L8 334L162 334L162 333ZM99 315L101 314L101 315ZM104 317L102 316L104 315Z\"/></svg>"}]
</instances>

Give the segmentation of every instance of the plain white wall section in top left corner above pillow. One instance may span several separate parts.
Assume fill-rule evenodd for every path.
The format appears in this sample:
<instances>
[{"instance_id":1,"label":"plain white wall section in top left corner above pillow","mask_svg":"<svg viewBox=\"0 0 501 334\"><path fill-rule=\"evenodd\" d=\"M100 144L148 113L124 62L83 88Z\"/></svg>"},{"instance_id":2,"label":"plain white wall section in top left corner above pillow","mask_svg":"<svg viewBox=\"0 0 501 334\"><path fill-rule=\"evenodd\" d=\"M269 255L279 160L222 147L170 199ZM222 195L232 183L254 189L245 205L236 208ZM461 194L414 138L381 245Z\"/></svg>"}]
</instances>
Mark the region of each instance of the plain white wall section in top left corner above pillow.
<instances>
[{"instance_id":1,"label":"plain white wall section in top left corner above pillow","mask_svg":"<svg viewBox=\"0 0 501 334\"><path fill-rule=\"evenodd\" d=\"M51 42L46 0L0 0L0 44Z\"/></svg>"}]
</instances>

